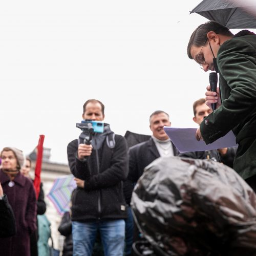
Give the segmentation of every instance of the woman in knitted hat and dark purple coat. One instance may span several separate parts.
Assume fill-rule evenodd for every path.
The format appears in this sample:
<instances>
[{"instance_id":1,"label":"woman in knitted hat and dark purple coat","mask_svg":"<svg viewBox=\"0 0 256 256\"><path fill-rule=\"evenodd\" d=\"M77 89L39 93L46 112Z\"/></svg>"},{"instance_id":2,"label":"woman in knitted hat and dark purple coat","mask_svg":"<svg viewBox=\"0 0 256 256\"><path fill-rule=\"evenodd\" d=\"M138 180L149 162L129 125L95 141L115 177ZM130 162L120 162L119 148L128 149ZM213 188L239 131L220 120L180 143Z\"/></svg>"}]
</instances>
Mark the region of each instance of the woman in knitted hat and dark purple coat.
<instances>
[{"instance_id":1,"label":"woman in knitted hat and dark purple coat","mask_svg":"<svg viewBox=\"0 0 256 256\"><path fill-rule=\"evenodd\" d=\"M0 157L0 182L12 206L17 233L1 238L3 256L30 256L30 233L36 229L36 195L31 179L20 174L25 158L15 147L4 147Z\"/></svg>"}]
</instances>

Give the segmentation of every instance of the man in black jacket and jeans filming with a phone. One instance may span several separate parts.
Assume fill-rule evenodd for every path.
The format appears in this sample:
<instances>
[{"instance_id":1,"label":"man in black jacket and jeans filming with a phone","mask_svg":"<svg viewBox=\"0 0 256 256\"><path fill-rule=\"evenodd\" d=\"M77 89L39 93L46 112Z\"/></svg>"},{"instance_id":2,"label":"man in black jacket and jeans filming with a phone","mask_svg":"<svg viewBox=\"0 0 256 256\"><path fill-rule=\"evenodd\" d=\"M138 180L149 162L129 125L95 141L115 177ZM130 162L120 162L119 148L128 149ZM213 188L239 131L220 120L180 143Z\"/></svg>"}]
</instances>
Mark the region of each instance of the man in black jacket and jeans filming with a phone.
<instances>
[{"instance_id":1,"label":"man in black jacket and jeans filming with a phone","mask_svg":"<svg viewBox=\"0 0 256 256\"><path fill-rule=\"evenodd\" d=\"M83 119L103 121L104 105L95 99L83 105ZM91 255L97 230L106 256L121 256L126 218L122 181L128 173L125 139L104 123L103 133L92 134L92 144L68 145L72 174L82 180L72 197L73 255Z\"/></svg>"}]
</instances>

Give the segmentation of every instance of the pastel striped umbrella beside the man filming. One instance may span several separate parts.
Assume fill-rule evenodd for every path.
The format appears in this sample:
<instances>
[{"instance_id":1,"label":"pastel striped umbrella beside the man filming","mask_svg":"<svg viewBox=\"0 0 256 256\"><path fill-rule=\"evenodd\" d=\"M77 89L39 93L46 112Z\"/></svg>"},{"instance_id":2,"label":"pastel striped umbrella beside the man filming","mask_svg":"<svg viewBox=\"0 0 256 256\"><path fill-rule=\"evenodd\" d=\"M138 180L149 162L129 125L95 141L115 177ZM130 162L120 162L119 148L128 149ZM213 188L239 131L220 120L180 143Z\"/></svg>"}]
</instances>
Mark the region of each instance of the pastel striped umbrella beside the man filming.
<instances>
[{"instance_id":1,"label":"pastel striped umbrella beside the man filming","mask_svg":"<svg viewBox=\"0 0 256 256\"><path fill-rule=\"evenodd\" d=\"M75 188L76 182L72 174L59 177L54 181L47 197L52 201L59 214L62 215L70 210L71 194Z\"/></svg>"}]
</instances>

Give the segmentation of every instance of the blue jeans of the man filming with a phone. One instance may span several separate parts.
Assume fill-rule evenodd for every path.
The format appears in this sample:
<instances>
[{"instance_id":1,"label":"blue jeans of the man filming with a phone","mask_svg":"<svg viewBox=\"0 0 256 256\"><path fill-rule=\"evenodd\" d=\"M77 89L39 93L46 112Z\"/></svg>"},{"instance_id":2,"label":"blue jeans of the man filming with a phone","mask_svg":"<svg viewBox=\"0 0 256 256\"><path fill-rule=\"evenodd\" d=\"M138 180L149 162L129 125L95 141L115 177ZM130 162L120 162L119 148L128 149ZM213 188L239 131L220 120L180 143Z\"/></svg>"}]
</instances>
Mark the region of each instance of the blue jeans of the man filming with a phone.
<instances>
[{"instance_id":1,"label":"blue jeans of the man filming with a phone","mask_svg":"<svg viewBox=\"0 0 256 256\"><path fill-rule=\"evenodd\" d=\"M122 256L124 249L124 220L72 221L73 256L91 256L97 230L100 232L105 256Z\"/></svg>"}]
</instances>

